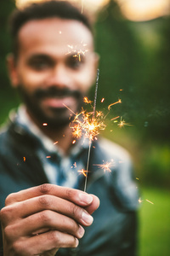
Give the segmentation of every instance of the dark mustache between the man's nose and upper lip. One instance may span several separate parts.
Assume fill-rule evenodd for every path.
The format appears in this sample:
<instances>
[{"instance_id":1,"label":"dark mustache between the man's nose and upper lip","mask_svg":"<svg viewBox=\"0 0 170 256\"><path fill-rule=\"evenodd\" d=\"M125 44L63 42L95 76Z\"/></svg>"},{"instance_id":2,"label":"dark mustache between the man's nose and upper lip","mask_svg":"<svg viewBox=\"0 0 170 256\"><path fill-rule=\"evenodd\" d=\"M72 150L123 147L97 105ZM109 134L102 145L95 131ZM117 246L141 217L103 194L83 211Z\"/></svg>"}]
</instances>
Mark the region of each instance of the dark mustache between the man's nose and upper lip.
<instances>
[{"instance_id":1,"label":"dark mustache between the man's nose and upper lip","mask_svg":"<svg viewBox=\"0 0 170 256\"><path fill-rule=\"evenodd\" d=\"M82 93L79 90L70 90L68 88L57 88L56 86L51 86L48 88L39 88L34 92L34 96L37 99L42 99L46 97L62 97L62 96L73 96L75 98L82 98Z\"/></svg>"}]
</instances>

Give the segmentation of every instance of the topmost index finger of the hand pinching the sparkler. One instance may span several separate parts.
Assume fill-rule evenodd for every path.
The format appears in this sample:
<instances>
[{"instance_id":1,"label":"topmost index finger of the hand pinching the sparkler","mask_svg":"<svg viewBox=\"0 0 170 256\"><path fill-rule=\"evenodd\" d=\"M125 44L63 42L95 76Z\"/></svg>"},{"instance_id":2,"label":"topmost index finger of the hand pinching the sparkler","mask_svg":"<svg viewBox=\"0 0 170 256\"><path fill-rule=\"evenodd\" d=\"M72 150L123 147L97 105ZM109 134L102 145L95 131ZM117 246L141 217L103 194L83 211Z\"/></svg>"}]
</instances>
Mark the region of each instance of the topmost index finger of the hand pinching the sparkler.
<instances>
[{"instance_id":1,"label":"topmost index finger of the hand pinching the sparkler","mask_svg":"<svg viewBox=\"0 0 170 256\"><path fill-rule=\"evenodd\" d=\"M78 206L82 207L88 206L93 201L93 197L83 191L47 183L8 195L6 199L6 206L14 202L26 201L27 199L40 195L55 195L65 199L66 201L74 202Z\"/></svg>"}]
</instances>

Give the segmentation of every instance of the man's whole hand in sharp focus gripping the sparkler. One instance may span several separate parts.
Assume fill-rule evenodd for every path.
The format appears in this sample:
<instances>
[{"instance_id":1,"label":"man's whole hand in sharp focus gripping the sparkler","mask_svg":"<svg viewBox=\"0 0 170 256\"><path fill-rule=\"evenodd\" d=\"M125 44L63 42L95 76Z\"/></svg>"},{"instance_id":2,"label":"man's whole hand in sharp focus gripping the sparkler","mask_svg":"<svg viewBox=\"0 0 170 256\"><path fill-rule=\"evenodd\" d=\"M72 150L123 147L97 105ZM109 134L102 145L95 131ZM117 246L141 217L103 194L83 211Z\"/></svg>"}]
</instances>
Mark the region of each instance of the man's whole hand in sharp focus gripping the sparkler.
<instances>
[{"instance_id":1,"label":"man's whole hand in sharp focus gripping the sparkler","mask_svg":"<svg viewBox=\"0 0 170 256\"><path fill-rule=\"evenodd\" d=\"M43 184L8 195L0 212L3 256L54 255L77 247L83 226L93 223L99 199L77 189Z\"/></svg>"}]
</instances>

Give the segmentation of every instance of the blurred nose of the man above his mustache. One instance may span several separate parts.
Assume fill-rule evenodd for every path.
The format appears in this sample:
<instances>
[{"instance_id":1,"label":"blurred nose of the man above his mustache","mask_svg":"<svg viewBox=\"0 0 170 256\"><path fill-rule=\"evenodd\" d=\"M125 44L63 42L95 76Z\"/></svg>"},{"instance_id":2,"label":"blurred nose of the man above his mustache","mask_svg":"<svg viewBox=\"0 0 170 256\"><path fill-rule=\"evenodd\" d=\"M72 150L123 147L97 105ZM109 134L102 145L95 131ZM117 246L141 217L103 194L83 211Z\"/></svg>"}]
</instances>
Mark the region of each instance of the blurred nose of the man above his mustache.
<instances>
[{"instance_id":1,"label":"blurred nose of the man above his mustache","mask_svg":"<svg viewBox=\"0 0 170 256\"><path fill-rule=\"evenodd\" d=\"M65 65L56 65L49 74L48 85L55 85L60 88L69 87L71 84L71 76Z\"/></svg>"}]
</instances>

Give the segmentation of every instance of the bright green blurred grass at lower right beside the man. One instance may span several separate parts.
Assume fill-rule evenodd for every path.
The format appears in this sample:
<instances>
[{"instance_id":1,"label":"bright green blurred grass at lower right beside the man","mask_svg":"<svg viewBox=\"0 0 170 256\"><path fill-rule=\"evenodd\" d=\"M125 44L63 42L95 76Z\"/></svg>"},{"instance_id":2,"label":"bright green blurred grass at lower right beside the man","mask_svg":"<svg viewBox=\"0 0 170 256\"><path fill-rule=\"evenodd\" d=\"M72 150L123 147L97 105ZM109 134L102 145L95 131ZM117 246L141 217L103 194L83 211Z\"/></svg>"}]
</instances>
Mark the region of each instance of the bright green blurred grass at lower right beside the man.
<instances>
[{"instance_id":1,"label":"bright green blurred grass at lower right beside the man","mask_svg":"<svg viewBox=\"0 0 170 256\"><path fill-rule=\"evenodd\" d=\"M139 256L170 255L170 190L144 188L141 200Z\"/></svg>"}]
</instances>

